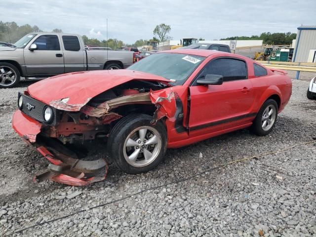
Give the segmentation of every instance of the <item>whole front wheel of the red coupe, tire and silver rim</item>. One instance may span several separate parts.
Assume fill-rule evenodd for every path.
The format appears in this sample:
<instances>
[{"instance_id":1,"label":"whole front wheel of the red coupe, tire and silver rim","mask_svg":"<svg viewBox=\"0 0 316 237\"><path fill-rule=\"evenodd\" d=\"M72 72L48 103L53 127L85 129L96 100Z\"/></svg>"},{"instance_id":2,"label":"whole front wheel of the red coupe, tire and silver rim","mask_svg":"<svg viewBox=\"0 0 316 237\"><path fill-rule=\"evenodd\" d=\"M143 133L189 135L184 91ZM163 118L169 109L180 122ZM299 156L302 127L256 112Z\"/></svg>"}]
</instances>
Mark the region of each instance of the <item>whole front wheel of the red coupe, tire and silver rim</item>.
<instances>
[{"instance_id":1,"label":"whole front wheel of the red coupe, tire and silver rim","mask_svg":"<svg viewBox=\"0 0 316 237\"><path fill-rule=\"evenodd\" d=\"M113 162L124 172L147 172L163 159L167 148L166 129L161 121L151 124L152 119L149 115L130 115L111 130L108 151Z\"/></svg>"}]
</instances>

